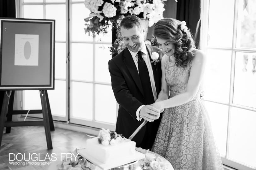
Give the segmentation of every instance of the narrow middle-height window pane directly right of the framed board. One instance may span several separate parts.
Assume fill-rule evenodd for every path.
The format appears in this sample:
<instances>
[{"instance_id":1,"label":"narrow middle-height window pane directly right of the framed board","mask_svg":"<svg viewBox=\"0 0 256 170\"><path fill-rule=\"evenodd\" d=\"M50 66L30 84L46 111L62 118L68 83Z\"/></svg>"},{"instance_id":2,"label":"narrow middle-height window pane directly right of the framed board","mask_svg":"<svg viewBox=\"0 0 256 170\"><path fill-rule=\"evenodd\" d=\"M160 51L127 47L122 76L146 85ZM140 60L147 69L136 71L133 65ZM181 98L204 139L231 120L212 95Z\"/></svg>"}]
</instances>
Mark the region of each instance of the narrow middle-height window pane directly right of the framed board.
<instances>
[{"instance_id":1,"label":"narrow middle-height window pane directly right of the framed board","mask_svg":"<svg viewBox=\"0 0 256 170\"><path fill-rule=\"evenodd\" d=\"M55 43L55 78L66 79L66 43Z\"/></svg>"}]
</instances>

